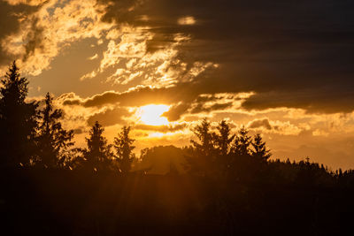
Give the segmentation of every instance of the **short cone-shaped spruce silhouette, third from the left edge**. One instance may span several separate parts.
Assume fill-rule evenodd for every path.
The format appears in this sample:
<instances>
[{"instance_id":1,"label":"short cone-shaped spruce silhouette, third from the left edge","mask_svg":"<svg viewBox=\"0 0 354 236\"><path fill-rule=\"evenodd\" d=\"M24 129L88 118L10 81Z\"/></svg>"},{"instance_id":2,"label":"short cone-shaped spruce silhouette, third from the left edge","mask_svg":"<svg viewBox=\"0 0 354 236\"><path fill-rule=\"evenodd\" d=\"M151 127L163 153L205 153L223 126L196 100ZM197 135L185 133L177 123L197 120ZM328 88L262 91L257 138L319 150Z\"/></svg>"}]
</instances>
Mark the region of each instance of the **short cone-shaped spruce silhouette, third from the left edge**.
<instances>
[{"instance_id":1,"label":"short cone-shaped spruce silhouette, third from the left edge","mask_svg":"<svg viewBox=\"0 0 354 236\"><path fill-rule=\"evenodd\" d=\"M108 170L112 164L111 145L107 144L107 140L103 136L104 128L95 122L89 131L89 138L86 138L88 148L83 150L85 169L90 171Z\"/></svg>"}]
</instances>

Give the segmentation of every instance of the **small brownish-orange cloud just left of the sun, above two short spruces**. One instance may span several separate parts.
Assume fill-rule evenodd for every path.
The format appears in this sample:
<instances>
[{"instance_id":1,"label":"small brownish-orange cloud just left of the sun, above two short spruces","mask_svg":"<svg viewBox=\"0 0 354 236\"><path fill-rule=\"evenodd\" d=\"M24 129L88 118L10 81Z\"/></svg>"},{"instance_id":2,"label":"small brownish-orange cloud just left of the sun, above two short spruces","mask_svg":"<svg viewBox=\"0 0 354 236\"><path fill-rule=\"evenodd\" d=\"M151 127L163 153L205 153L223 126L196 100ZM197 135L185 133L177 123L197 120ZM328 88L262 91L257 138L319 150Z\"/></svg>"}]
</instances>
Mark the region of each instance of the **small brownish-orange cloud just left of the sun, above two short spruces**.
<instances>
[{"instance_id":1,"label":"small brownish-orange cloud just left of the sun, above two short spruces","mask_svg":"<svg viewBox=\"0 0 354 236\"><path fill-rule=\"evenodd\" d=\"M127 117L129 115L129 111L125 108L117 107L114 109L107 109L89 117L88 124L89 126L93 126L96 121L98 121L102 126L125 124L126 121L123 120L123 117Z\"/></svg>"}]
</instances>

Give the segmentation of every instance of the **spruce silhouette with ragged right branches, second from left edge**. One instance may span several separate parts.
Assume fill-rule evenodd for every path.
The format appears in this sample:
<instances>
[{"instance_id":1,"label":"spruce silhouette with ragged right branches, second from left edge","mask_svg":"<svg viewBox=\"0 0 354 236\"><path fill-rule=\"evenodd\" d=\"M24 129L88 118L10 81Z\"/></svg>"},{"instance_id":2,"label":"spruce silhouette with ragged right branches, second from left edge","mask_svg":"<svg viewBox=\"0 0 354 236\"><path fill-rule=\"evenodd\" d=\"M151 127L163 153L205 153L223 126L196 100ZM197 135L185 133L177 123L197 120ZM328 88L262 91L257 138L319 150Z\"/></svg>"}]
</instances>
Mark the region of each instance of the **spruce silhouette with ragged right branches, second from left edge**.
<instances>
[{"instance_id":1,"label":"spruce silhouette with ragged right branches, second from left edge","mask_svg":"<svg viewBox=\"0 0 354 236\"><path fill-rule=\"evenodd\" d=\"M53 109L53 98L45 96L45 107L40 111L41 122L38 128L38 157L45 167L57 167L65 159L65 151L73 146L73 130L66 131L59 119L63 110Z\"/></svg>"}]
</instances>

